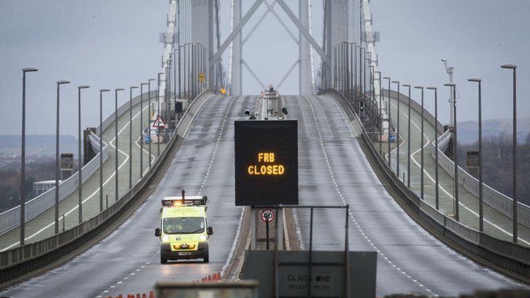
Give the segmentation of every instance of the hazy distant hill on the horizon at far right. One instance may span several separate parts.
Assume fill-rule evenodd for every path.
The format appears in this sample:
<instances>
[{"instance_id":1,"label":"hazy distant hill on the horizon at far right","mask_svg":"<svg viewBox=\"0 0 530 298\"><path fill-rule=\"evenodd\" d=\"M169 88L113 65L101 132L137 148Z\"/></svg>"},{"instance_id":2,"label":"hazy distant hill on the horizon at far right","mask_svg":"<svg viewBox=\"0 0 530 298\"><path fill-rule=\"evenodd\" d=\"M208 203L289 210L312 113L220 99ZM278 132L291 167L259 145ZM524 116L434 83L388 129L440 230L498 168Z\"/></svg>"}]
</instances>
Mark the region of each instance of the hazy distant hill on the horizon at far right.
<instances>
[{"instance_id":1,"label":"hazy distant hill on the horizon at far right","mask_svg":"<svg viewBox=\"0 0 530 298\"><path fill-rule=\"evenodd\" d=\"M511 136L511 119L492 119L482 121L482 137L494 137L502 132ZM530 117L517 119L517 141L524 143L530 133ZM478 121L458 122L458 143L471 144L478 141Z\"/></svg>"}]
</instances>

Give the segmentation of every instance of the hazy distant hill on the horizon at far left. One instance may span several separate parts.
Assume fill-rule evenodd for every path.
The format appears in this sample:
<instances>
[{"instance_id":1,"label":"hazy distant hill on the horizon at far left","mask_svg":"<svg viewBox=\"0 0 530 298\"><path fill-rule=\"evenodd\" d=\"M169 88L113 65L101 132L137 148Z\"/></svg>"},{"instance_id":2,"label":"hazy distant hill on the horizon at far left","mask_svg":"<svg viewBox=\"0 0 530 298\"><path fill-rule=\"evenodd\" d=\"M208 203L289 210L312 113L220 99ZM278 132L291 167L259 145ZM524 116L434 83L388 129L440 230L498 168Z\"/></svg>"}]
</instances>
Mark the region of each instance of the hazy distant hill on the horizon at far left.
<instances>
[{"instance_id":1,"label":"hazy distant hill on the horizon at far left","mask_svg":"<svg viewBox=\"0 0 530 298\"><path fill-rule=\"evenodd\" d=\"M61 152L77 152L77 138L60 135ZM15 157L21 153L21 136L0 135L0 157ZM27 156L55 156L55 135L26 135Z\"/></svg>"}]
</instances>

